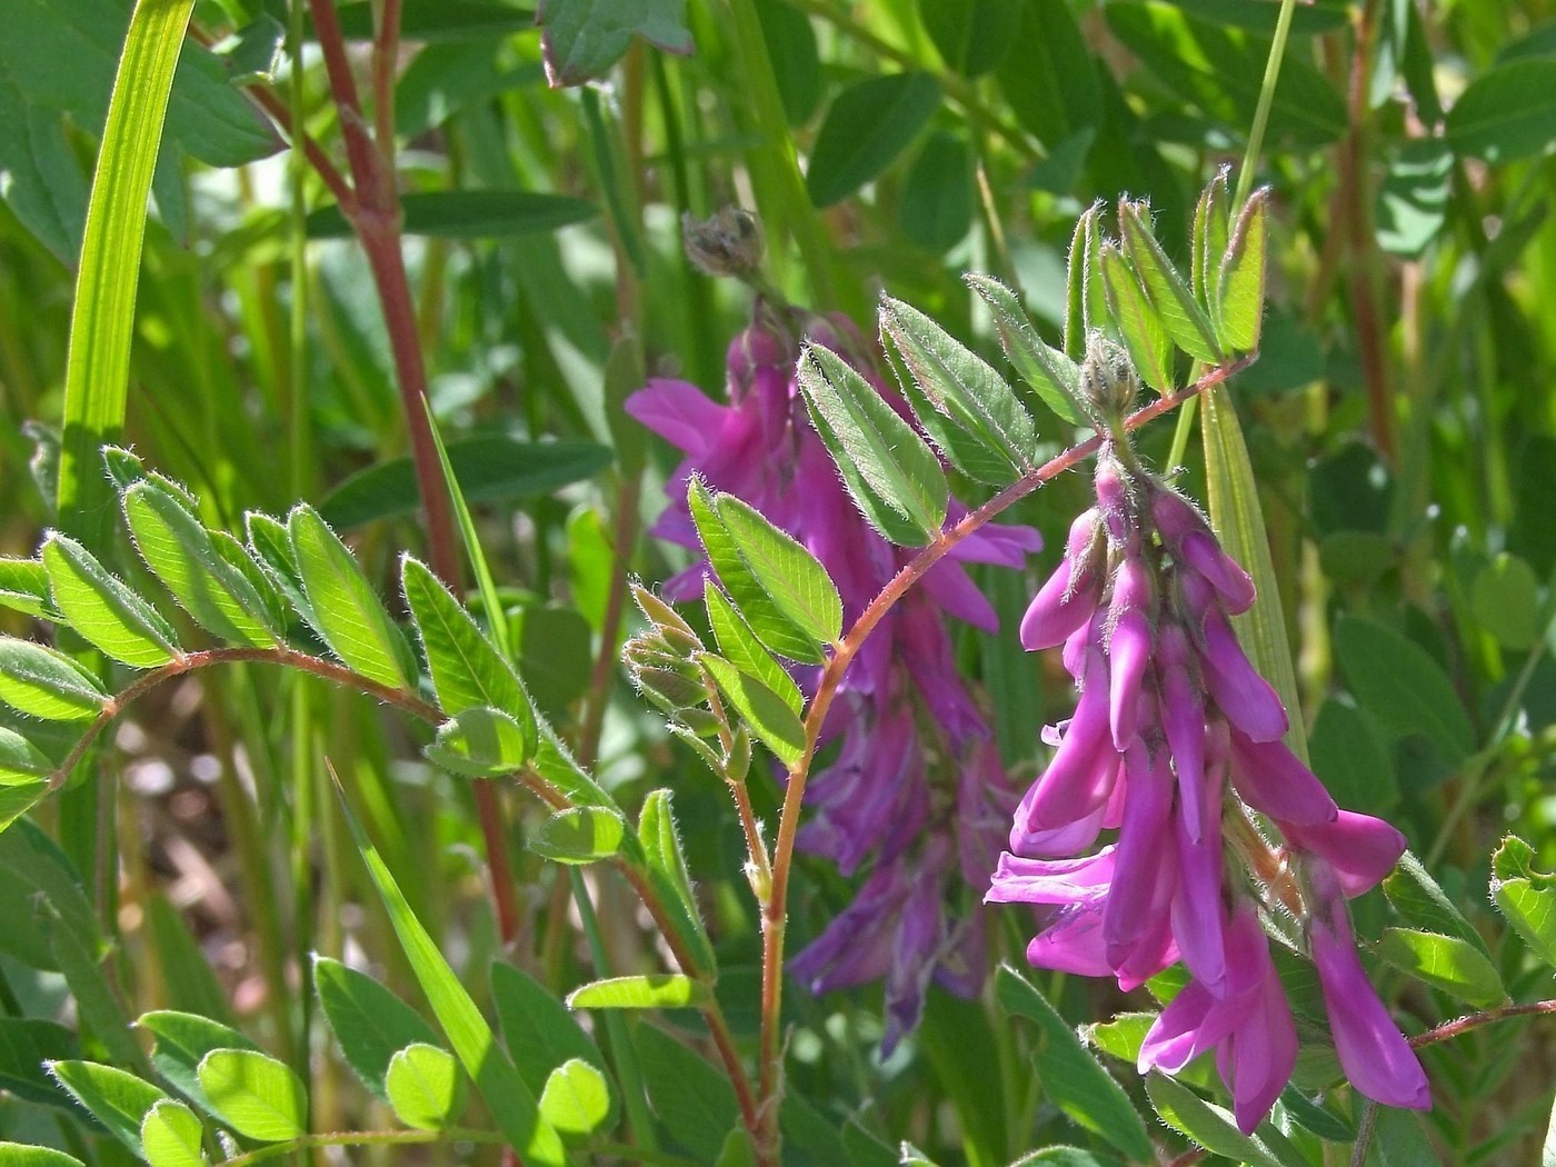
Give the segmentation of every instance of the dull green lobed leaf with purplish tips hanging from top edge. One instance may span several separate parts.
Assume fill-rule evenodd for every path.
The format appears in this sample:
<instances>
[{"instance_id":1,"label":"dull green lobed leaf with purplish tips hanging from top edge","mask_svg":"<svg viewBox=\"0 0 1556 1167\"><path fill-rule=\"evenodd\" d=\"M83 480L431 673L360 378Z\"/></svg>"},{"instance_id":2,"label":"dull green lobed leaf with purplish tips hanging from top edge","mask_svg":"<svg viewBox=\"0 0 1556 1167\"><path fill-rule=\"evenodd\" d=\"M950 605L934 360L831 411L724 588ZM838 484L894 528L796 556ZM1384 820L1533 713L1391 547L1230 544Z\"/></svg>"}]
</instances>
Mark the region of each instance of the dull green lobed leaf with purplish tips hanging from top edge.
<instances>
[{"instance_id":1,"label":"dull green lobed leaf with purplish tips hanging from top edge","mask_svg":"<svg viewBox=\"0 0 1556 1167\"><path fill-rule=\"evenodd\" d=\"M686 0L540 0L535 20L552 87L604 76L633 36L666 53L692 48Z\"/></svg>"}]
</instances>

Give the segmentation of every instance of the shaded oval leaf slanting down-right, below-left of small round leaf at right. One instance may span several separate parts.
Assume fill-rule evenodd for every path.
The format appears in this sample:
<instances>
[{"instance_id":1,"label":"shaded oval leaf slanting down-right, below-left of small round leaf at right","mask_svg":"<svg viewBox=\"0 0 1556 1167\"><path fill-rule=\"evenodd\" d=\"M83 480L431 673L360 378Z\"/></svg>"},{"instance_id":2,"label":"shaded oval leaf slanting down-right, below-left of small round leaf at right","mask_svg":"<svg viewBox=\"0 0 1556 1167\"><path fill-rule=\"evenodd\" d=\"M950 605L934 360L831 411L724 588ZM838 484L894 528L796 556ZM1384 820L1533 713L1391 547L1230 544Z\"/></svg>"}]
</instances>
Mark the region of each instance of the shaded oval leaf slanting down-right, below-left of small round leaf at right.
<instances>
[{"instance_id":1,"label":"shaded oval leaf slanting down-right, below-left of small round leaf at right","mask_svg":"<svg viewBox=\"0 0 1556 1167\"><path fill-rule=\"evenodd\" d=\"M1366 713L1394 738L1422 734L1456 766L1475 748L1475 727L1453 682L1425 649L1365 616L1341 616L1333 632L1340 672Z\"/></svg>"}]
</instances>

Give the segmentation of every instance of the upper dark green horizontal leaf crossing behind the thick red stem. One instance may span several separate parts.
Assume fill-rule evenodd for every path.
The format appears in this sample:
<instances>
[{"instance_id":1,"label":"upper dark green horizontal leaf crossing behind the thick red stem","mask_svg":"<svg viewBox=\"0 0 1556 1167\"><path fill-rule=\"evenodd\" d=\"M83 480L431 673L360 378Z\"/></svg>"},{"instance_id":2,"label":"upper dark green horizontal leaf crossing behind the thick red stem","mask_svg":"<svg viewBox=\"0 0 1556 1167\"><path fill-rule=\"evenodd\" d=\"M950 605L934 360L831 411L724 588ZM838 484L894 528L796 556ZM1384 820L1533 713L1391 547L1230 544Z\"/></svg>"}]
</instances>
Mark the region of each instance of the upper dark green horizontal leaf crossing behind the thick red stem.
<instances>
[{"instance_id":1,"label":"upper dark green horizontal leaf crossing behind the thick red stem","mask_svg":"<svg viewBox=\"0 0 1556 1167\"><path fill-rule=\"evenodd\" d=\"M588 223L599 215L588 199L532 190L412 191L400 196L400 209L406 235L440 240L512 240ZM347 238L352 224L339 207L321 207L308 215L307 230L314 240Z\"/></svg>"}]
</instances>

